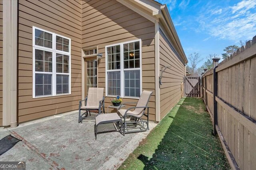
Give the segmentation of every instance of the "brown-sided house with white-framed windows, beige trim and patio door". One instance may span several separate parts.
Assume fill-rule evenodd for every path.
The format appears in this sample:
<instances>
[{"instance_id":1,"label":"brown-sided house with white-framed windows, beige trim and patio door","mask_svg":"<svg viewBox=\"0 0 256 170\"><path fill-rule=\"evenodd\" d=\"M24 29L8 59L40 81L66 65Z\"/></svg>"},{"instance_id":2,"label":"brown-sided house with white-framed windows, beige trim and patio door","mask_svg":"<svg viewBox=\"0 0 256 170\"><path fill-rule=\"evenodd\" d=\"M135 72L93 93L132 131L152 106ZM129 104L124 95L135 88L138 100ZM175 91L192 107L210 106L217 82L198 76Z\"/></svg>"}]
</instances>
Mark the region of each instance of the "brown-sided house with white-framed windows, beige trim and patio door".
<instances>
[{"instance_id":1,"label":"brown-sided house with white-framed windows, beige trim and patio door","mask_svg":"<svg viewBox=\"0 0 256 170\"><path fill-rule=\"evenodd\" d=\"M153 0L0 3L1 126L76 110L88 87L105 88L105 107L117 95L136 102L142 90L152 91L152 121L160 121L181 98L188 61L166 5ZM162 66L171 68L160 86Z\"/></svg>"}]
</instances>

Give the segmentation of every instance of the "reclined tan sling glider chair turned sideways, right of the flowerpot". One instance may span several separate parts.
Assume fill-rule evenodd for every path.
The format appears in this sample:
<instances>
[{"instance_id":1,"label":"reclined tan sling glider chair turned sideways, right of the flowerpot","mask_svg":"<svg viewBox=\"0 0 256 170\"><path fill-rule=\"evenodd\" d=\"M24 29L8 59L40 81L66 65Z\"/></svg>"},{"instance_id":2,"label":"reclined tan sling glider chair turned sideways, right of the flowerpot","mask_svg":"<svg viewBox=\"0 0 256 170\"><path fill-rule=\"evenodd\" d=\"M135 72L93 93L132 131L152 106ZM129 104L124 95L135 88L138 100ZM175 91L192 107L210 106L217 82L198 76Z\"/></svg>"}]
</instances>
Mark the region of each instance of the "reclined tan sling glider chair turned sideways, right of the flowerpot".
<instances>
[{"instance_id":1,"label":"reclined tan sling glider chair turned sideways, right of the flowerpot","mask_svg":"<svg viewBox=\"0 0 256 170\"><path fill-rule=\"evenodd\" d=\"M119 116L122 116L124 118L124 126L123 126L124 134L125 133L134 133L134 132L144 132L146 130L149 130L149 127L148 127L148 114L149 113L145 113L145 110L146 110L146 108L147 109L149 108L147 105L148 105L148 101L149 101L149 98L152 95L152 93L153 92L144 90L142 92L142 94L140 95L140 99L138 100L138 102L126 102L126 103L124 103L124 104L136 103L135 107L130 107L128 109L119 109L118 110ZM124 104L122 104L122 105L124 105ZM131 111L131 109L134 109L134 111ZM146 121L141 119L143 115L147 117ZM135 121L129 121L129 122L126 121L127 116L135 117ZM142 123L142 125L140 123ZM144 127L144 123L147 124L147 128ZM142 129L137 130L137 131L130 131L129 132L127 124L140 125L140 127ZM126 131L125 131L125 129L126 129Z\"/></svg>"}]
</instances>

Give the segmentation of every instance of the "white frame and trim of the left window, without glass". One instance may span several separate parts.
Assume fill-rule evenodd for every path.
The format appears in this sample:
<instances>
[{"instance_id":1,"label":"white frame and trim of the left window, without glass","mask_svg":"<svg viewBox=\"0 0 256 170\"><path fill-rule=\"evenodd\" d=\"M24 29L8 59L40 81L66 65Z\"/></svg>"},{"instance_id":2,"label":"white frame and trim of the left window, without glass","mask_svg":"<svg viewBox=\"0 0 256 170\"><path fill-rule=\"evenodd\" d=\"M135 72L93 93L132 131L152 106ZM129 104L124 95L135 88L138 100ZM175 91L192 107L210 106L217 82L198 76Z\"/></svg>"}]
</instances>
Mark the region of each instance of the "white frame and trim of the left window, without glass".
<instances>
[{"instance_id":1,"label":"white frame and trim of the left window, without glass","mask_svg":"<svg viewBox=\"0 0 256 170\"><path fill-rule=\"evenodd\" d=\"M62 95L69 95L71 94L71 39L68 37L64 37L62 35L38 28L33 26L33 34L32 34L32 42L33 42L33 98L45 98L45 97L51 97L51 96L62 96ZM52 34L52 49L48 47L42 47L39 45L35 45L35 29L39 29L41 31L51 33ZM69 52L66 51L60 51L56 50L56 35L59 37L63 37L66 39L69 39ZM43 51L50 51L52 52L52 72L37 72L35 70L35 49L43 50ZM60 73L56 72L56 53L68 55L69 56L69 73ZM36 73L41 74L52 74L52 95L45 95L45 96L36 96L35 87L36 87ZM69 75L69 93L64 94L56 94L56 75L62 74L62 75Z\"/></svg>"}]
</instances>

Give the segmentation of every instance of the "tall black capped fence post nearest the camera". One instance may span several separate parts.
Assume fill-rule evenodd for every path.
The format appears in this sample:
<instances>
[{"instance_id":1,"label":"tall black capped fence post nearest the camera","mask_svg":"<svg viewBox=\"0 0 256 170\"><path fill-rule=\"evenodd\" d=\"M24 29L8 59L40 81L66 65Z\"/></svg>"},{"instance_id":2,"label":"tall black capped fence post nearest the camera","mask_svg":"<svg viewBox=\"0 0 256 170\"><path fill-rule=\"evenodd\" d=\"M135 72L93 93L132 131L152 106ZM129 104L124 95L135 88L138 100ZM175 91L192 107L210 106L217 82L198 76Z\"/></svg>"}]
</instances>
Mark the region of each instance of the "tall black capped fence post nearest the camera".
<instances>
[{"instance_id":1,"label":"tall black capped fence post nearest the camera","mask_svg":"<svg viewBox=\"0 0 256 170\"><path fill-rule=\"evenodd\" d=\"M215 100L215 96L218 96L218 73L216 73L216 68L218 67L218 62L220 58L213 58L213 133L217 134L216 125L218 125L218 106Z\"/></svg>"}]
</instances>

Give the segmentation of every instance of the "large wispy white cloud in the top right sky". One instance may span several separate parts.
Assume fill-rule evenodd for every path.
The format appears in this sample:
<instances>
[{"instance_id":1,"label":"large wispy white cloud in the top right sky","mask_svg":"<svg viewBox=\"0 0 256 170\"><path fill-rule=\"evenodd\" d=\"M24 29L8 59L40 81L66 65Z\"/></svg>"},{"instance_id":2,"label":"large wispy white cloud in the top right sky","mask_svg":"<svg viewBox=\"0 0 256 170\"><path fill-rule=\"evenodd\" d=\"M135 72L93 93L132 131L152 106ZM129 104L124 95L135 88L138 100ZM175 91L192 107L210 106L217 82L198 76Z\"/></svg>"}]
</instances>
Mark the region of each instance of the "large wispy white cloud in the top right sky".
<instances>
[{"instance_id":1,"label":"large wispy white cloud in the top right sky","mask_svg":"<svg viewBox=\"0 0 256 170\"><path fill-rule=\"evenodd\" d=\"M218 7L218 10L209 7L196 18L200 25L196 31L207 33L210 37L232 41L252 39L256 35L255 7L256 1L242 1L228 8Z\"/></svg>"}]
</instances>

